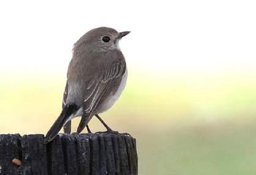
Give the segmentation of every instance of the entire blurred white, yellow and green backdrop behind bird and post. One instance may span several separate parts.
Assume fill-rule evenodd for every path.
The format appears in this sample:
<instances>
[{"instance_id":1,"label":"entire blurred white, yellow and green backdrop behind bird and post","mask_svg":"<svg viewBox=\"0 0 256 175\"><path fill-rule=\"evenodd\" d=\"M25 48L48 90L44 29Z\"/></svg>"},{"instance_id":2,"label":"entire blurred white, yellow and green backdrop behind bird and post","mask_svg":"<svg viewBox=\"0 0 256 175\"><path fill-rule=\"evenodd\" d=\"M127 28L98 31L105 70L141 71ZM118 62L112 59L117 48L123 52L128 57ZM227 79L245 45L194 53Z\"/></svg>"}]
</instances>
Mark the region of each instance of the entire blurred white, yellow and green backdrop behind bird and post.
<instances>
[{"instance_id":1,"label":"entire blurred white, yellow and green backdrop behind bird and post","mask_svg":"<svg viewBox=\"0 0 256 175\"><path fill-rule=\"evenodd\" d=\"M131 30L120 42L128 81L101 117L136 137L139 174L255 174L255 8L225 0L1 1L0 133L46 134L61 111L73 43L108 26ZM95 118L89 124L104 131Z\"/></svg>"}]
</instances>

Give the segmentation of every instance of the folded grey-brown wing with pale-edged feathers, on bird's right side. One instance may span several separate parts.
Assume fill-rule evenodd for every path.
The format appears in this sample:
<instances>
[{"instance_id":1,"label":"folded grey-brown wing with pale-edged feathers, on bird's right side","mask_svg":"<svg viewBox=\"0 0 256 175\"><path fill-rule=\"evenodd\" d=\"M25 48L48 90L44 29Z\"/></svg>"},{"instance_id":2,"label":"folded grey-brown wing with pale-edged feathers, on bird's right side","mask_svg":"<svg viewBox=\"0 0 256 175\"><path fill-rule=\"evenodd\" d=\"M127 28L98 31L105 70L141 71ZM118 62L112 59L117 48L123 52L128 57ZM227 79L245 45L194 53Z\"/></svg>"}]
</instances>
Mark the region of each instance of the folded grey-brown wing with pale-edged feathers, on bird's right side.
<instances>
[{"instance_id":1,"label":"folded grey-brown wing with pale-edged feathers, on bird's right side","mask_svg":"<svg viewBox=\"0 0 256 175\"><path fill-rule=\"evenodd\" d=\"M83 115L78 126L78 132L81 132L92 116L97 114L104 101L117 91L125 70L126 63L124 60L114 61L110 69L105 70L97 80L91 80L87 85L84 91Z\"/></svg>"}]
</instances>

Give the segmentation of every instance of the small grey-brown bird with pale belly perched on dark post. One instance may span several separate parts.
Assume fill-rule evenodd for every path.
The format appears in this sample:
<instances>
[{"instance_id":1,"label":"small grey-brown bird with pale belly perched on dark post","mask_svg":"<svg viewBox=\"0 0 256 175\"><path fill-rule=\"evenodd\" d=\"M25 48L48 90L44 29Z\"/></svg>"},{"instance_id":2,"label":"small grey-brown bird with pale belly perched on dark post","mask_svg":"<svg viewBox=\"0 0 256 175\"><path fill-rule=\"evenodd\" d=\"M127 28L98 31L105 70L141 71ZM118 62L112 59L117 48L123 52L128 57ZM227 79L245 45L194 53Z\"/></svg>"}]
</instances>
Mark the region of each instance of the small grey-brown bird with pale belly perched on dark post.
<instances>
[{"instance_id":1,"label":"small grey-brown bird with pale belly perched on dark post","mask_svg":"<svg viewBox=\"0 0 256 175\"><path fill-rule=\"evenodd\" d=\"M107 131L113 131L98 114L111 108L125 88L128 73L119 41L128 33L98 27L76 41L68 65L62 111L47 132L45 143L51 142L62 127L70 134L71 119L79 116L78 134L85 127L90 132L88 123L93 116Z\"/></svg>"}]
</instances>

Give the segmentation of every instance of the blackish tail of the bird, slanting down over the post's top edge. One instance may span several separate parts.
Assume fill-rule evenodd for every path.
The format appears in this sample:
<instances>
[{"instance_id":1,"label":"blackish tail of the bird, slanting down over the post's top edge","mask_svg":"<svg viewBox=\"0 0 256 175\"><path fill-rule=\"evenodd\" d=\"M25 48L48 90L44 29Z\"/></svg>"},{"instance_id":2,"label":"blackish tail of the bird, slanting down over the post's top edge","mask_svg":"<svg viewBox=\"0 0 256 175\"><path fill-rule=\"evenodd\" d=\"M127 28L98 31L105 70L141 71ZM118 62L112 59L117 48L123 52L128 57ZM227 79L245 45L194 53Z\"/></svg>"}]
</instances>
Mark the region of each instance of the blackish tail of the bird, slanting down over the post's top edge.
<instances>
[{"instance_id":1,"label":"blackish tail of the bird, slanting down over the post's top edge","mask_svg":"<svg viewBox=\"0 0 256 175\"><path fill-rule=\"evenodd\" d=\"M51 142L51 140L53 140L54 137L57 136L60 129L65 125L66 122L68 122L68 120L70 119L70 116L76 111L78 111L78 106L76 106L74 103L67 104L64 106L59 117L47 132L45 136L45 144L48 142Z\"/></svg>"}]
</instances>

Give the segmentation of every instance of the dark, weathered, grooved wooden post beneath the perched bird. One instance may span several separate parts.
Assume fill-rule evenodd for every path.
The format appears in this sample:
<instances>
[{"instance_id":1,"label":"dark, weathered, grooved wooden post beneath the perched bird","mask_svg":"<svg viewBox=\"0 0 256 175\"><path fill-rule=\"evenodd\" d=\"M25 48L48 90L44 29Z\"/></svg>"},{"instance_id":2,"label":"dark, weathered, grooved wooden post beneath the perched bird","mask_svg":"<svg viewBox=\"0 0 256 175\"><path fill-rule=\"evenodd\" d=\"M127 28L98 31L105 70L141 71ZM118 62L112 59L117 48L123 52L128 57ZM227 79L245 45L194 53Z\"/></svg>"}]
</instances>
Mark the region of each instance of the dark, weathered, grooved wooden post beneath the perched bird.
<instances>
[{"instance_id":1,"label":"dark, weathered, grooved wooden post beneath the perched bird","mask_svg":"<svg viewBox=\"0 0 256 175\"><path fill-rule=\"evenodd\" d=\"M137 174L136 140L126 134L59 134L47 145L43 140L42 134L0 135L0 174Z\"/></svg>"}]
</instances>

